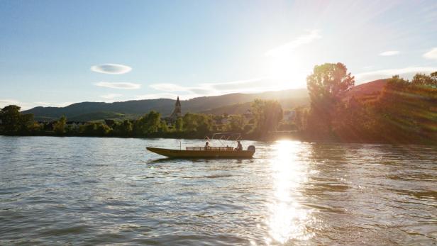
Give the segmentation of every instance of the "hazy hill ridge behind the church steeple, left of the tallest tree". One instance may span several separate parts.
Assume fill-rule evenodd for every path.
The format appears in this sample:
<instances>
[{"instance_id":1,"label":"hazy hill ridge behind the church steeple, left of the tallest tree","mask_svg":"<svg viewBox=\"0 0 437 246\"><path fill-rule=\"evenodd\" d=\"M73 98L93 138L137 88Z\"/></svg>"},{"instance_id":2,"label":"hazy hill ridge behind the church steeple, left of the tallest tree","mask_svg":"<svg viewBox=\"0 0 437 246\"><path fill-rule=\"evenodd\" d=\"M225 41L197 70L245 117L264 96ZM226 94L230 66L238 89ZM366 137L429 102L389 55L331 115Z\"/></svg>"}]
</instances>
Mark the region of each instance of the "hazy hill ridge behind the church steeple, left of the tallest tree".
<instances>
[{"instance_id":1,"label":"hazy hill ridge behind the church steeple, left of the tallest tree","mask_svg":"<svg viewBox=\"0 0 437 246\"><path fill-rule=\"evenodd\" d=\"M302 104L308 103L306 89L289 89L284 91L267 91L259 94L226 94L221 96L202 96L194 99L181 101L183 113L199 113L213 108L228 106L231 104L245 104L255 99L296 100ZM294 104L289 102L289 104ZM82 102L65 107L35 107L22 113L33 113L35 120L53 121L60 116L72 119L84 119L86 121L99 121L106 118L107 113L118 113L135 118L149 111L155 110L162 116L169 116L175 105L173 99L148 99L136 101L118 101L114 103ZM100 112L100 113L96 113ZM105 113L102 113L105 112ZM118 118L111 116L110 118Z\"/></svg>"}]
</instances>

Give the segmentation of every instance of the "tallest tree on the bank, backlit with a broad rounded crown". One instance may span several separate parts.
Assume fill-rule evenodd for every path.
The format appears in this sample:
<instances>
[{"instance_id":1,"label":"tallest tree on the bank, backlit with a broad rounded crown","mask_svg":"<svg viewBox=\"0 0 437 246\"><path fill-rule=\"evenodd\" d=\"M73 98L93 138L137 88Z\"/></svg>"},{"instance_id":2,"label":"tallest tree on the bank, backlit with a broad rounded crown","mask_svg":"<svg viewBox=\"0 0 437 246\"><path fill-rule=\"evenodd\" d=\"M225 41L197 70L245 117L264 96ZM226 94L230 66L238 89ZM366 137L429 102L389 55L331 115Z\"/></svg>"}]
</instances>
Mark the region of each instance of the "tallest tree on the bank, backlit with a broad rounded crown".
<instances>
[{"instance_id":1,"label":"tallest tree on the bank, backlit with a broad rounded crown","mask_svg":"<svg viewBox=\"0 0 437 246\"><path fill-rule=\"evenodd\" d=\"M333 111L341 97L353 88L355 80L342 63L316 65L313 74L306 77L306 86L311 99L309 126L319 132L330 133ZM314 130L314 129L311 129Z\"/></svg>"}]
</instances>

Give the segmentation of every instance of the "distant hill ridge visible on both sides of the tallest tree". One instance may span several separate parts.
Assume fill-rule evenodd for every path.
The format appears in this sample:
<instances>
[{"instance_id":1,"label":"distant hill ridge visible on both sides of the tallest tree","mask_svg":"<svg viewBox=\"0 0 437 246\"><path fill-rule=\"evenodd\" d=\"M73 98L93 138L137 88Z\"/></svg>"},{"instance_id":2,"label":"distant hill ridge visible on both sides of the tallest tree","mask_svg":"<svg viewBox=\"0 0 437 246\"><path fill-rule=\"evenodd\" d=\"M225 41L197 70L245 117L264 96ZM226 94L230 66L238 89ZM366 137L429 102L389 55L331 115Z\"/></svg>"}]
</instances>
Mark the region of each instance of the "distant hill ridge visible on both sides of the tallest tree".
<instances>
[{"instance_id":1,"label":"distant hill ridge visible on both sides of the tallest tree","mask_svg":"<svg viewBox=\"0 0 437 246\"><path fill-rule=\"evenodd\" d=\"M348 91L345 96L371 96L375 98L387 84L387 79L359 84ZM277 100L282 108L293 108L309 104L306 89L288 89L284 91L266 91L258 94L225 94L221 96L201 96L189 100L181 100L182 113L245 113L250 102L255 99ZM114 103L82 102L65 107L35 107L23 111L33 113L37 121L54 121L61 116L67 121L101 121L105 118L123 119L138 118L149 111L158 111L162 116L170 116L175 107L175 99L147 99L135 101L117 101Z\"/></svg>"}]
</instances>

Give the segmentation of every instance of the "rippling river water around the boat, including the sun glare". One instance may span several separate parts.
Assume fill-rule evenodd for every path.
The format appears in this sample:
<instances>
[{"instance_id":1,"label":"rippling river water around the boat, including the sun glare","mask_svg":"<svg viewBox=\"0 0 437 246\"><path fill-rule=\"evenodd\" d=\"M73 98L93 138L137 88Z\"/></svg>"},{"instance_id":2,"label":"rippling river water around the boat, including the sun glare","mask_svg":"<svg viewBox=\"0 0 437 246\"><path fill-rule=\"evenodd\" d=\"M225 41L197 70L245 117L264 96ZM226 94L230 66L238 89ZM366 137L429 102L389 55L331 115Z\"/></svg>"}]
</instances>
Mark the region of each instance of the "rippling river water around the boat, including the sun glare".
<instances>
[{"instance_id":1,"label":"rippling river water around the boat, including the sun glare","mask_svg":"<svg viewBox=\"0 0 437 246\"><path fill-rule=\"evenodd\" d=\"M184 145L199 145L182 140ZM0 245L435 245L437 147L0 136Z\"/></svg>"}]
</instances>

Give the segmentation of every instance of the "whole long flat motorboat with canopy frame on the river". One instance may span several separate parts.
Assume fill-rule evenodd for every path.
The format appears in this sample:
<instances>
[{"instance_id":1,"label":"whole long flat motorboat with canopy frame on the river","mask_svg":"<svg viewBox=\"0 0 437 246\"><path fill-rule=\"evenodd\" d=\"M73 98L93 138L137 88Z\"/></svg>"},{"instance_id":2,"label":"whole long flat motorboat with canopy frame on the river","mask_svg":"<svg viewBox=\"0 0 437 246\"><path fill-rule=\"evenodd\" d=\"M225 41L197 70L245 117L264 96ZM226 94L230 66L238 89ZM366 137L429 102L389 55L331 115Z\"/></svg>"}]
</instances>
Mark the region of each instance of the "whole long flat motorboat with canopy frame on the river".
<instances>
[{"instance_id":1,"label":"whole long flat motorboat with canopy frame on the river","mask_svg":"<svg viewBox=\"0 0 437 246\"><path fill-rule=\"evenodd\" d=\"M238 133L216 133L208 140L240 140ZM235 150L233 147L185 147L185 150L172 150L159 147L146 147L150 152L172 158L252 158L255 146L250 145L247 150Z\"/></svg>"}]
</instances>

